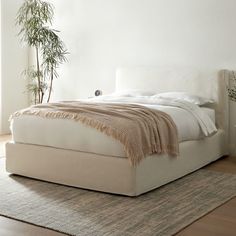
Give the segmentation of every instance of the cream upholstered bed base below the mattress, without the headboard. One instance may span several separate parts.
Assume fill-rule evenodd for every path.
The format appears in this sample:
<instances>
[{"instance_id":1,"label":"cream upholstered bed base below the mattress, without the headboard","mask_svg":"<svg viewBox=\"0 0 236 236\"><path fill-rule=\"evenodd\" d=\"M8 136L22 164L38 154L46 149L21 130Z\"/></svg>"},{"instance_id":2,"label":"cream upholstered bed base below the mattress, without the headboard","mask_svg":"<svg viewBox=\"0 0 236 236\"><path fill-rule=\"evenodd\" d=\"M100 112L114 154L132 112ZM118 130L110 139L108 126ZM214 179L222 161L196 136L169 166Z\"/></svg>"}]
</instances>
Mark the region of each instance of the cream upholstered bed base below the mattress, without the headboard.
<instances>
[{"instance_id":1,"label":"cream upholstered bed base below the mattress, without the headboard","mask_svg":"<svg viewBox=\"0 0 236 236\"><path fill-rule=\"evenodd\" d=\"M9 173L74 187L138 196L226 155L225 133L180 144L180 156L152 155L138 166L127 158L46 146L7 143Z\"/></svg>"}]
</instances>

